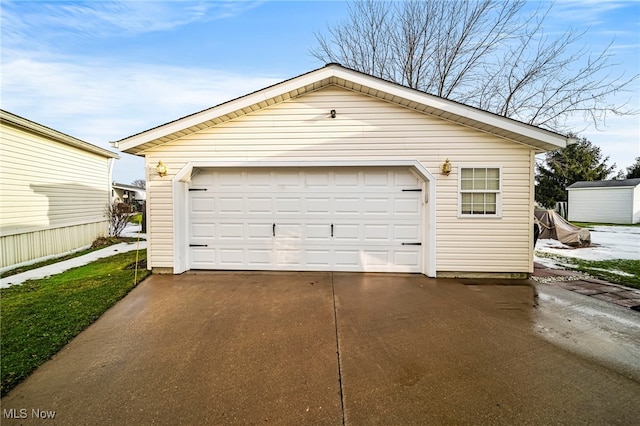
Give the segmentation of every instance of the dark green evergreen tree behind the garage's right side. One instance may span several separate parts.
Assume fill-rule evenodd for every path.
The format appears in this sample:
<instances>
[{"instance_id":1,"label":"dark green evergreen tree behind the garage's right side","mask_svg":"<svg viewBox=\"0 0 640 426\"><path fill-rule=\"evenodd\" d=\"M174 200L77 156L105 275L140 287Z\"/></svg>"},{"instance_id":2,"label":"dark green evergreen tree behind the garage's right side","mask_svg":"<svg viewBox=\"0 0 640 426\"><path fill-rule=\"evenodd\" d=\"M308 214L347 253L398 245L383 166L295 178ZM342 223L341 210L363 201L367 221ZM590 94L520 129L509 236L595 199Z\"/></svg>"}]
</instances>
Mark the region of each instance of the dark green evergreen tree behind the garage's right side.
<instances>
[{"instance_id":1,"label":"dark green evergreen tree behind the garage's right side","mask_svg":"<svg viewBox=\"0 0 640 426\"><path fill-rule=\"evenodd\" d=\"M578 181L605 180L616 165L609 166L609 157L602 159L600 148L586 138L566 148L548 152L536 164L536 201L553 208L556 202L567 201L567 186Z\"/></svg>"}]
</instances>

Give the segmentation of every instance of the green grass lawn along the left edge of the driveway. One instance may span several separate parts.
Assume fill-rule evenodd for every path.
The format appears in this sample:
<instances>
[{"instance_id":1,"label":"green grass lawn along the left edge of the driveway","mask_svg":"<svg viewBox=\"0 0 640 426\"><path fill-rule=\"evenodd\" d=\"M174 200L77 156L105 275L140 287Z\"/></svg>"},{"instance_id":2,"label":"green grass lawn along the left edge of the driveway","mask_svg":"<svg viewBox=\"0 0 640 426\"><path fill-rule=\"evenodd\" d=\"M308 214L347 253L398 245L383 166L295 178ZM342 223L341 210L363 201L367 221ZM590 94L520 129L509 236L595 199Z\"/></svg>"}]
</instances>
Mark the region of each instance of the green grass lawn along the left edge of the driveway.
<instances>
[{"instance_id":1,"label":"green grass lawn along the left edge of the driveway","mask_svg":"<svg viewBox=\"0 0 640 426\"><path fill-rule=\"evenodd\" d=\"M146 250L138 260L146 260ZM121 253L0 290L2 395L149 275L139 269L134 283L135 261L135 251Z\"/></svg>"}]
</instances>

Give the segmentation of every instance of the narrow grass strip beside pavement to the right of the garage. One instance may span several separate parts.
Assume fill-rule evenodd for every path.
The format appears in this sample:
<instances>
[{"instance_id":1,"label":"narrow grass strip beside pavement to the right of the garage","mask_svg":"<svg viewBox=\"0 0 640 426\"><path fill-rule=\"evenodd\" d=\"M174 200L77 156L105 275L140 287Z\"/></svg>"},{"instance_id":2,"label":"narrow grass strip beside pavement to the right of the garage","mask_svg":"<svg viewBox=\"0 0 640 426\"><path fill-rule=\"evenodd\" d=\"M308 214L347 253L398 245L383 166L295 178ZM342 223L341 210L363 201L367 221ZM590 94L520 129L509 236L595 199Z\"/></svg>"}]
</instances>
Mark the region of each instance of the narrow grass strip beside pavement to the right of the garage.
<instances>
[{"instance_id":1,"label":"narrow grass strip beside pavement to the right of the garage","mask_svg":"<svg viewBox=\"0 0 640 426\"><path fill-rule=\"evenodd\" d=\"M640 289L640 260L582 260L558 254L536 252L539 257L557 259L572 269L585 272L601 280ZM616 274L612 271L625 272L629 275Z\"/></svg>"}]
</instances>

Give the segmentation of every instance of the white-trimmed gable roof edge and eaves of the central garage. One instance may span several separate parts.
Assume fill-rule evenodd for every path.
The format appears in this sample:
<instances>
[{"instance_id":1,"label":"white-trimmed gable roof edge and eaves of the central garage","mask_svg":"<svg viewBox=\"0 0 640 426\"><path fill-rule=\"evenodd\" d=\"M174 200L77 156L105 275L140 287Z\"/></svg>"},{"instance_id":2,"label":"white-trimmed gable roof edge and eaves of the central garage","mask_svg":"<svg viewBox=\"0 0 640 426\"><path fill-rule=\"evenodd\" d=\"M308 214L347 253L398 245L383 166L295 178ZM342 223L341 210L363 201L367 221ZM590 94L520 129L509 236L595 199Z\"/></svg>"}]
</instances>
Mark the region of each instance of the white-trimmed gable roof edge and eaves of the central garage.
<instances>
[{"instance_id":1,"label":"white-trimmed gable roof edge and eaves of the central garage","mask_svg":"<svg viewBox=\"0 0 640 426\"><path fill-rule=\"evenodd\" d=\"M343 87L396 103L405 108L531 146L538 152L564 148L571 143L569 138L558 133L331 63L298 77L120 139L114 144L129 154L140 154L182 136L328 86Z\"/></svg>"}]
</instances>

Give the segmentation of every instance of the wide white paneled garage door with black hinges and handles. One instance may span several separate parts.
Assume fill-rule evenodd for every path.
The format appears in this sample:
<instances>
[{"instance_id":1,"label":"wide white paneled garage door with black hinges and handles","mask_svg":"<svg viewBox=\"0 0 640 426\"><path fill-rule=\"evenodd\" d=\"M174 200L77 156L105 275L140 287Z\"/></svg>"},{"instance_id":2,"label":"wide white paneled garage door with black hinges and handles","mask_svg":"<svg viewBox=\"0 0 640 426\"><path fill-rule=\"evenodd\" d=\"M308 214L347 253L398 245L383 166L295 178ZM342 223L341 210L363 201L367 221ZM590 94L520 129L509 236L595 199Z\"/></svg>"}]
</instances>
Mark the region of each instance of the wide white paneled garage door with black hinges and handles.
<instances>
[{"instance_id":1,"label":"wide white paneled garage door with black hinges and handles","mask_svg":"<svg viewBox=\"0 0 640 426\"><path fill-rule=\"evenodd\" d=\"M407 168L199 170L191 269L421 272L422 183Z\"/></svg>"}]
</instances>

